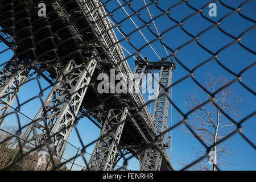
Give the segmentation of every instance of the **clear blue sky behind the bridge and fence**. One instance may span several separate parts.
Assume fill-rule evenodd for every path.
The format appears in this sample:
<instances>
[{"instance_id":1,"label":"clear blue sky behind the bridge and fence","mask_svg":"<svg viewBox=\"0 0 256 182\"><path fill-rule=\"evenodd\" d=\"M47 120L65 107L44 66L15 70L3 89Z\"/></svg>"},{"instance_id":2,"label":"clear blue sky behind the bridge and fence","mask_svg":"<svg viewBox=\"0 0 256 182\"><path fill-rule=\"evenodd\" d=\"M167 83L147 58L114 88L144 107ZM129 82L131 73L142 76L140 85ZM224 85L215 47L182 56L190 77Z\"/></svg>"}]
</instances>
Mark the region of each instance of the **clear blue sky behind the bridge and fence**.
<instances>
[{"instance_id":1,"label":"clear blue sky behind the bridge and fence","mask_svg":"<svg viewBox=\"0 0 256 182\"><path fill-rule=\"evenodd\" d=\"M120 1L123 4L123 1ZM150 3L150 0L146 1L147 3ZM180 1L167 1L162 0L159 1L159 6L164 10L167 11L169 7L174 5L175 3ZM239 5L241 5L242 0L226 0L223 1L229 6L232 6L233 8L237 9ZM205 5L205 0L193 0L189 1L189 4L196 9L201 9ZM219 19L221 19L226 14L229 14L232 12L232 10L227 9L223 5L221 5L218 1L216 2L217 5L217 17L209 17L208 11L209 8L205 7L203 14L207 16L209 19L213 20L214 22L217 22ZM138 11L141 9L141 7L144 6L143 1L132 1L131 7L134 9L134 11ZM113 11L116 7L118 7L118 3L116 1L110 1L107 3L107 9L108 11ZM133 14L133 11L129 9L128 6L125 6L125 9L127 13L130 15ZM159 9L155 5L149 6L149 9L151 11L151 14L153 17L158 16L161 14ZM245 16L250 17L251 19L255 19L256 15L256 1L251 1L247 3L246 5L242 6L241 13ZM140 17L145 21L148 22L150 20L150 17L147 14L146 9L143 9L140 12ZM190 7L188 7L184 2L180 5L176 6L174 9L170 11L170 16L174 19L176 19L178 22L183 20L188 15L191 15L195 13L194 10L192 10ZM116 22L121 21L123 18L126 17L126 15L123 13L122 9L118 9L113 11L113 19ZM134 22L138 25L138 27L141 27L144 25L144 23L138 18L137 15L132 16ZM168 18L167 15L160 16L159 18L155 19L156 26L158 27L158 31L164 32L168 28L175 26L175 22L173 22L170 18ZM207 27L212 26L213 23L210 23L208 20L205 20L202 18L200 14L193 15L191 18L185 20L183 22L184 29L187 30L190 34L193 36L196 36L199 34L199 32L205 30ZM241 32L245 31L247 28L254 26L255 23L250 22L249 20L246 20L245 18L242 18L238 13L234 13L228 18L225 18L221 21L221 28L223 28L226 32L229 32L229 34L237 37L241 34ZM155 32L154 26L152 23L150 24L150 28L152 31ZM133 26L131 21L129 19L125 20L121 23L121 30L125 32L125 34L129 34L131 31L135 30L136 28ZM155 39L155 36L151 34L150 31L148 31L147 27L144 27L141 29L143 34L146 36L148 41L152 41ZM121 34L119 34L118 31L116 31L117 38L119 40L123 39ZM230 42L233 42L234 39L230 38L229 36L225 35L223 32L218 30L217 27L211 28L210 30L204 32L204 34L201 34L199 42L206 48L208 48L213 53L216 53L220 48L226 46ZM189 40L192 40L191 36L187 35L181 28L178 26L163 35L163 42L170 47L171 49L175 50L176 48L180 47L184 43L189 42ZM147 44L142 36L139 34L139 32L135 32L134 34L130 35L130 41L134 46L138 49L143 47L145 44ZM256 28L253 30L247 32L245 35L242 36L241 40L242 44L244 44L246 47L250 48L253 51L256 51ZM126 40L123 40L121 42L121 45L125 47L129 52L134 53L134 49L129 45L129 43L126 42ZM159 41L156 41L151 44L151 46L155 49L156 52L158 52L160 57L166 57L166 53L164 52L164 49ZM5 45L2 43L0 44L0 52L3 51L6 48ZM123 51L126 56L129 56L128 53ZM171 55L171 51L168 50L168 53ZM141 55L144 57L148 57L150 61L158 61L158 57L154 54L152 49L149 46L144 47L141 49ZM11 52L6 51L0 54L1 57L1 64L5 63L7 60L11 57ZM177 51L177 59L181 61L182 64L185 65L188 69L193 69L196 67L196 65L199 65L200 63L203 63L203 61L209 59L212 57L210 53L205 51L203 48L201 48L195 41L192 43L187 44L186 46L182 47ZM172 57L174 58L174 57ZM238 74L242 69L246 68L250 64L255 63L255 55L246 49L242 48L238 43L234 43L232 46L229 46L228 48L224 49L218 54L218 60L227 68L232 70L232 72ZM135 65L134 65L134 59L131 57L127 59L131 71L133 71ZM173 73L173 82L176 82L183 78L184 76L187 76L189 72L180 65L176 59L174 59L176 64L176 69ZM224 68L222 68L215 60L209 61L207 64L204 64L202 67L196 69L195 73L195 79L200 82L200 84L204 84L205 81L207 81L207 74L210 73L214 76L226 76L229 78L229 80L233 80L236 78L236 76L232 75L228 71L226 71ZM250 89L256 90L256 84L255 84L255 77L256 77L256 68L252 67L249 70L247 70L245 73L242 74L242 81L245 85L249 86ZM43 80L43 78L39 78L40 84L42 84L43 88L46 88L48 86L48 83ZM248 90L243 88L241 84L238 82L235 82L232 86L232 89L236 92L235 96L239 96L243 98L243 102L241 104L241 118L246 117L250 113L253 113L255 111L256 106L256 100L254 94L250 93ZM188 109L185 108L185 101L188 100L188 93L195 93L197 88L197 84L192 80L192 78L187 78L183 81L181 81L179 84L175 85L172 88L172 100L174 101L175 105L179 107L179 109L183 113L187 113ZM44 92L42 99L45 99L47 97L47 94L49 93L49 90L46 90ZM38 86L38 82L36 80L29 81L26 85L22 87L20 90L20 93L18 94L19 102L25 102L28 99L38 96L40 90ZM14 103L14 106L16 106L16 102ZM34 118L36 112L40 108L40 100L39 98L35 98L34 100L28 102L27 104L23 105L21 110L22 113L28 115L30 118ZM188 118L191 118L191 115L188 116ZM241 119L240 118L240 119ZM22 122L22 125L29 122L29 119L24 118L20 115L20 121ZM170 110L169 110L169 117L168 117L168 127L170 127ZM180 121L179 118L179 112L172 107L172 124L174 125ZM237 120L239 121L239 119ZM11 124L10 124L11 123ZM5 121L3 122L3 126L7 125L16 125L16 117L14 114L10 115L9 117L6 117ZM1 127L3 127L1 126ZM255 138L255 129L256 129L256 123L255 123L255 115L254 117L251 117L248 119L245 123L243 123L243 134L248 137L251 142L254 144L256 143ZM88 119L81 119L77 125L77 129L79 130L79 134L82 138L82 141L84 144L90 143L92 140L97 139L97 137L100 134L100 129L98 129L96 126L93 125L92 122L90 122ZM234 155L229 156L229 159L232 159L234 163L238 164L236 166L233 166L232 168L227 167L221 167L221 169L228 170L228 169L235 169L235 170L255 170L256 169L256 155L255 150L253 147L251 147L239 134L235 134L232 137L233 142L227 143L228 147ZM76 147L81 147L81 144L77 138L77 134L75 131L72 133L71 138L69 139L69 142L71 142ZM175 128L172 131L172 164L175 169L180 169L181 166L177 162L180 160L183 163L191 163L195 158L192 157L193 150L192 147L200 147L200 143L192 137L189 137L188 135L184 134L180 131L180 129ZM92 154L94 145L86 148L86 152ZM70 146L68 144L63 158L69 159L73 155L76 154L77 149ZM89 160L90 155L85 155L86 159ZM76 159L76 163L80 164L81 166L85 166L84 162L82 162L81 158ZM139 164L136 159L130 159L128 163L129 169L139 169ZM122 163L119 163L119 166L122 166ZM81 169L79 166L73 166L73 169Z\"/></svg>"}]
</instances>

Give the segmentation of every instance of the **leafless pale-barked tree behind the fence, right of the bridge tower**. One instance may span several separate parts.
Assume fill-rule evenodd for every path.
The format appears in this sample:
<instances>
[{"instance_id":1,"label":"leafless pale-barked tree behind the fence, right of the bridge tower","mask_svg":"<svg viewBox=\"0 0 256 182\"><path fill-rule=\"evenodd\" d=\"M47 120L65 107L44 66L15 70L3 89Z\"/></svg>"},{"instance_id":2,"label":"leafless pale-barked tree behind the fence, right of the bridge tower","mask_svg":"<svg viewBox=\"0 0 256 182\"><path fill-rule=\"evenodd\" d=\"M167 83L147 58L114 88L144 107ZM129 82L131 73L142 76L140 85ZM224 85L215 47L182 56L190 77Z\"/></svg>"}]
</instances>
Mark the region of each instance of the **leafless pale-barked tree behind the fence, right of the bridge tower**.
<instances>
[{"instance_id":1,"label":"leafless pale-barked tree behind the fence, right of the bridge tower","mask_svg":"<svg viewBox=\"0 0 256 182\"><path fill-rule=\"evenodd\" d=\"M208 73L208 78L209 80L205 83L205 86L207 86L207 89L212 93L229 82L227 77L214 77L211 76L210 73ZM189 101L185 103L185 106L189 110L197 109L193 111L192 118L189 118L187 124L195 131L197 136L193 135L188 129L183 128L182 130L192 137L200 138L208 146L213 146L213 155L215 155L218 166L230 167L234 165L234 163L229 158L226 158L226 156L232 155L232 152L229 150L226 143L218 145L216 145L216 143L232 132L235 126L234 123L224 116L221 110L229 114L230 117L239 118L239 104L242 100L238 97L235 98L234 90L230 87L226 87L218 92L216 97L208 102L208 104L199 107L204 101L211 98L212 96L201 89L199 89L197 94L189 94ZM220 107L221 110L216 107L214 103ZM230 142L230 140L226 141ZM206 155L206 151L202 150L202 148L193 148L193 150L195 152L195 158ZM208 158L201 160L192 169L210 170ZM212 170L216 170L214 163L212 163Z\"/></svg>"}]
</instances>

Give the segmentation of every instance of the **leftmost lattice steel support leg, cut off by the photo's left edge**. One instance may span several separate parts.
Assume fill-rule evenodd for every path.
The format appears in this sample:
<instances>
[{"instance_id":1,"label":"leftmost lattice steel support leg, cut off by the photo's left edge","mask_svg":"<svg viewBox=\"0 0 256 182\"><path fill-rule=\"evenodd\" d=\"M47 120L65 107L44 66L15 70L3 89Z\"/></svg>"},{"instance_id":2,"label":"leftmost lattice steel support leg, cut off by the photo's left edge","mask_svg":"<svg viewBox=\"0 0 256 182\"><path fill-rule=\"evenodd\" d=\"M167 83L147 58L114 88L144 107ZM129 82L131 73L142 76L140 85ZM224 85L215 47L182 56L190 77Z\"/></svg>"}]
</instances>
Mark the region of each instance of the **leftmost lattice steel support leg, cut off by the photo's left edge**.
<instances>
[{"instance_id":1,"label":"leftmost lattice steel support leg, cut off by the photo's left edge","mask_svg":"<svg viewBox=\"0 0 256 182\"><path fill-rule=\"evenodd\" d=\"M0 72L0 125L31 71L24 66L26 61L16 61L13 56Z\"/></svg>"}]
</instances>

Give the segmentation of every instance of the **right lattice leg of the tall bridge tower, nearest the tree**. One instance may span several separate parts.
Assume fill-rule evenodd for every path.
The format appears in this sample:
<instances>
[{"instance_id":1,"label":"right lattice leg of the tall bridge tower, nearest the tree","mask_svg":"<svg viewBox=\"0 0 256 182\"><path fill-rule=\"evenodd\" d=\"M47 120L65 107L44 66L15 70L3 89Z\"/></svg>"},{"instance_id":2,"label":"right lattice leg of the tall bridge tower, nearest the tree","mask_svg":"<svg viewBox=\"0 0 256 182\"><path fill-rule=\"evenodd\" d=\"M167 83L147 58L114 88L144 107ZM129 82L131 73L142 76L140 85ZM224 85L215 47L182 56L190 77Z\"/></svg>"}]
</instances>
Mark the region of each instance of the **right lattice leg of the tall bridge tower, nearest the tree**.
<instances>
[{"instance_id":1,"label":"right lattice leg of the tall bridge tower, nearest the tree","mask_svg":"<svg viewBox=\"0 0 256 182\"><path fill-rule=\"evenodd\" d=\"M155 101L154 105L154 113L153 119L155 122L156 131L158 134L161 134L167 128L167 116L168 116L168 98L170 96L170 88L168 86L171 85L172 80L172 71L174 70L173 66L161 66L160 76L159 76L159 97L158 100ZM159 138L159 146L163 148L165 145L165 135ZM160 170L163 157L160 155L160 152L155 148L148 148L146 151L141 154L142 159L142 171L157 171Z\"/></svg>"}]
</instances>

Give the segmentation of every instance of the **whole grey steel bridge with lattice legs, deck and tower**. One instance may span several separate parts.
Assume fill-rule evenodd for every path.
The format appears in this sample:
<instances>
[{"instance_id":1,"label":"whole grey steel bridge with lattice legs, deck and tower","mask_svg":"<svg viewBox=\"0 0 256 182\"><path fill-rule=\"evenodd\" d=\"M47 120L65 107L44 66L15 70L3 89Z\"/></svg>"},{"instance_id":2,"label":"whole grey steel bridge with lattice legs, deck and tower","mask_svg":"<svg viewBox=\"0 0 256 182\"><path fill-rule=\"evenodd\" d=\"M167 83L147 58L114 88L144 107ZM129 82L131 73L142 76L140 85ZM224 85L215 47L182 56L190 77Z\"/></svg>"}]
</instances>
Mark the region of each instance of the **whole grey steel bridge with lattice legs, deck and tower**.
<instances>
[{"instance_id":1,"label":"whole grey steel bridge with lattice legs, deck and tower","mask_svg":"<svg viewBox=\"0 0 256 182\"><path fill-rule=\"evenodd\" d=\"M113 170L125 155L119 154L121 148L139 160L141 170L172 169L165 135L158 137L167 129L172 61L138 57L131 72L101 1L40 1L47 5L46 17L38 16L38 3L32 0L0 2L0 39L14 51L0 72L0 125L34 72L52 85L23 135L23 150L48 147L52 154L62 156L73 126L87 117L101 129L88 169ZM133 84L126 94L97 93L97 76L111 77L112 68L127 85L134 80L128 77L132 73L159 70L160 97L154 101L154 113L148 111L140 85ZM114 86L109 85L110 90ZM155 145L146 148L153 142Z\"/></svg>"}]
</instances>

